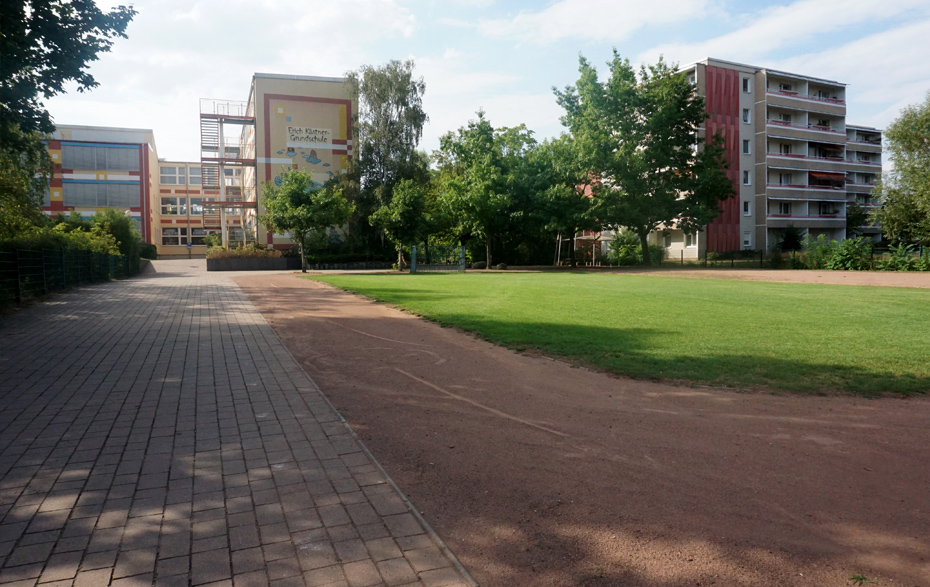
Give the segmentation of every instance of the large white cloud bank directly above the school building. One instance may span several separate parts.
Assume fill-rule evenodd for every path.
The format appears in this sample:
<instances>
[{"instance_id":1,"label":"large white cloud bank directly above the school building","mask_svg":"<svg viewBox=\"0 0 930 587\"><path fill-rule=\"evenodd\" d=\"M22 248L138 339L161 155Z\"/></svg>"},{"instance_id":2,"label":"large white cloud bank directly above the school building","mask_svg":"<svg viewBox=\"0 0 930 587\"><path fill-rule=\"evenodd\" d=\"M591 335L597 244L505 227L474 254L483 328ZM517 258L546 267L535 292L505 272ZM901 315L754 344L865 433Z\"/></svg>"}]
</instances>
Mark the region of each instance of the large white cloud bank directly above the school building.
<instances>
[{"instance_id":1,"label":"large white cloud bank directly above the school building","mask_svg":"<svg viewBox=\"0 0 930 587\"><path fill-rule=\"evenodd\" d=\"M136 9L129 38L92 65L100 87L48 107L61 124L151 128L159 155L172 159L200 155L198 98L245 100L254 72L341 76L370 60L366 43L417 28L396 0L148 0Z\"/></svg>"}]
</instances>

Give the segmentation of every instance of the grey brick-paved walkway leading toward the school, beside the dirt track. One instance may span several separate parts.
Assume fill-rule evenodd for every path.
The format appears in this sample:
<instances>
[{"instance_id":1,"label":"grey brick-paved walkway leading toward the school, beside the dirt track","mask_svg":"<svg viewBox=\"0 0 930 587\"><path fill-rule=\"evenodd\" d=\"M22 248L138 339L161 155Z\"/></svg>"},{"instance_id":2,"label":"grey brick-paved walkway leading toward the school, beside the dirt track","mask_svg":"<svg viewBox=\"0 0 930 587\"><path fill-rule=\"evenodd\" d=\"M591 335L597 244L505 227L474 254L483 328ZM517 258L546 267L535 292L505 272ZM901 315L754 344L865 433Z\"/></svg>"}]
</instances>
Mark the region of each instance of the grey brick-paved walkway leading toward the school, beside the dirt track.
<instances>
[{"instance_id":1,"label":"grey brick-paved walkway leading toward the school, beside the dirt track","mask_svg":"<svg viewBox=\"0 0 930 587\"><path fill-rule=\"evenodd\" d=\"M0 318L0 584L471 584L195 264Z\"/></svg>"}]
</instances>

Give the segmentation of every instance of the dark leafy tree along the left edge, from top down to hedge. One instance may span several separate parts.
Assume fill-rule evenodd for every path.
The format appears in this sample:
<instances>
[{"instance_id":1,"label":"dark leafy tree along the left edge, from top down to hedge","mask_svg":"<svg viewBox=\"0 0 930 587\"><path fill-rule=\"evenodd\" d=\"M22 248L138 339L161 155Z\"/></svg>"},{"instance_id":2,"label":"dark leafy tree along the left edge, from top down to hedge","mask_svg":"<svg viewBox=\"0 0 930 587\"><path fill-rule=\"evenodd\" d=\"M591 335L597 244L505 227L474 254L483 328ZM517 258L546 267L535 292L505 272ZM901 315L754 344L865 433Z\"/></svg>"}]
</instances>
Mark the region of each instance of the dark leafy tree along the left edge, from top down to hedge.
<instances>
[{"instance_id":1,"label":"dark leafy tree along the left edge, from top down to hedge","mask_svg":"<svg viewBox=\"0 0 930 587\"><path fill-rule=\"evenodd\" d=\"M55 130L43 101L97 81L88 63L125 37L131 7L101 11L93 0L0 2L0 239L40 223L52 173L43 139Z\"/></svg>"}]
</instances>

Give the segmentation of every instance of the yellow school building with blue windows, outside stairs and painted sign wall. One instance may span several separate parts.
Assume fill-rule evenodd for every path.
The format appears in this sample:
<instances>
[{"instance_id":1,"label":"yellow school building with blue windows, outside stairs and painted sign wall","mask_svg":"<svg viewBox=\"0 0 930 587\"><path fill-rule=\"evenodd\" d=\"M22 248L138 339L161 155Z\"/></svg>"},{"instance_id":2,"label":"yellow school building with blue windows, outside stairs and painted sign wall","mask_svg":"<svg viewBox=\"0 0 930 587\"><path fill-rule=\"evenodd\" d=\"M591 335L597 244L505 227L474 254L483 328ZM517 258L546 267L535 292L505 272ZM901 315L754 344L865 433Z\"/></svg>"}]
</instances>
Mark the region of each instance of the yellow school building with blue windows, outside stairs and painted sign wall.
<instances>
[{"instance_id":1,"label":"yellow school building with blue windows, outside stairs and painted sign wall","mask_svg":"<svg viewBox=\"0 0 930 587\"><path fill-rule=\"evenodd\" d=\"M160 158L149 129L59 125L47 214L126 211L160 256L203 255L207 234L230 245L287 246L257 222L258 194L285 169L322 185L352 157L356 102L342 78L256 73L245 101L200 101L200 160Z\"/></svg>"}]
</instances>

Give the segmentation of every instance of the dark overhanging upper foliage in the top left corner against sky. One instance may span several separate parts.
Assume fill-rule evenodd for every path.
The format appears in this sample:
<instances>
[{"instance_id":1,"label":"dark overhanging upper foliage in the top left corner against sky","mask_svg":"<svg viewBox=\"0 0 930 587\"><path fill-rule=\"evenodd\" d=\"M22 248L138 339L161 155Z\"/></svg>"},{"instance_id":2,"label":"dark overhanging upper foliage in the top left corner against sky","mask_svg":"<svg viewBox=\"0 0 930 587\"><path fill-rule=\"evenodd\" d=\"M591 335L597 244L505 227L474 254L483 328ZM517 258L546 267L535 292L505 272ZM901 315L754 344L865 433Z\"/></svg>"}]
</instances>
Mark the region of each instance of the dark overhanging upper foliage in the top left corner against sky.
<instances>
[{"instance_id":1,"label":"dark overhanging upper foliage in the top left corner against sky","mask_svg":"<svg viewBox=\"0 0 930 587\"><path fill-rule=\"evenodd\" d=\"M43 99L74 82L97 86L87 64L126 37L131 6L102 12L93 0L4 2L0 12L0 146L22 149L55 130Z\"/></svg>"}]
</instances>

